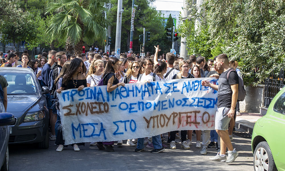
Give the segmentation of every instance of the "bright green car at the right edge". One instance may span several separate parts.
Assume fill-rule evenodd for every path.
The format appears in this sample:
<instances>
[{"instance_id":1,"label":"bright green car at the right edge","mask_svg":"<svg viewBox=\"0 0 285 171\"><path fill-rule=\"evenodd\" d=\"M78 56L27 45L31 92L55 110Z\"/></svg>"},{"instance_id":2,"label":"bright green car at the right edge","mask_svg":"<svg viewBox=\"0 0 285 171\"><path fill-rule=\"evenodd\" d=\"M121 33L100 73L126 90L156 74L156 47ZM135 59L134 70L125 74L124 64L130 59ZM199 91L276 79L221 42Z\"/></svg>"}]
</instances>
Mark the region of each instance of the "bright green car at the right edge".
<instances>
[{"instance_id":1,"label":"bright green car at the right edge","mask_svg":"<svg viewBox=\"0 0 285 171\"><path fill-rule=\"evenodd\" d=\"M254 170L285 171L285 88L254 125L251 147Z\"/></svg>"}]
</instances>

